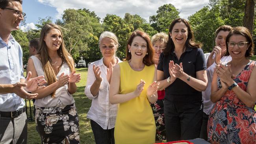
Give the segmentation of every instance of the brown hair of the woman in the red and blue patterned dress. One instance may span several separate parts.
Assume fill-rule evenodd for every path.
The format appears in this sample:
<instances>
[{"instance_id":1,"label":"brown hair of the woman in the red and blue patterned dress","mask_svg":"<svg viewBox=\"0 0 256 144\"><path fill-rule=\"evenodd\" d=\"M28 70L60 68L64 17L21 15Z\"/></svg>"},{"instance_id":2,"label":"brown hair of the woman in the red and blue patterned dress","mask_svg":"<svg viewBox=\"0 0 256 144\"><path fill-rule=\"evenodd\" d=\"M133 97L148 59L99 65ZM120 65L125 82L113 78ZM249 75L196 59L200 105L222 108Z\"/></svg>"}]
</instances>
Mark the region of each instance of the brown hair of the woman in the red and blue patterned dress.
<instances>
[{"instance_id":1,"label":"brown hair of the woman in the red and blue patterned dress","mask_svg":"<svg viewBox=\"0 0 256 144\"><path fill-rule=\"evenodd\" d=\"M248 47L248 49L246 50L245 52L245 57L252 57L254 52L253 52L253 49L254 49L254 43L253 43L253 40L252 40L252 35L250 34L250 31L243 27L243 26L237 26L236 28L234 28L233 30L231 30L229 33L228 33L228 36L226 37L226 47L227 47L227 51L226 51L226 54L225 56L229 55L229 52L228 52L228 41L230 39L230 37L232 35L243 35L246 40L250 43L250 46Z\"/></svg>"}]
</instances>

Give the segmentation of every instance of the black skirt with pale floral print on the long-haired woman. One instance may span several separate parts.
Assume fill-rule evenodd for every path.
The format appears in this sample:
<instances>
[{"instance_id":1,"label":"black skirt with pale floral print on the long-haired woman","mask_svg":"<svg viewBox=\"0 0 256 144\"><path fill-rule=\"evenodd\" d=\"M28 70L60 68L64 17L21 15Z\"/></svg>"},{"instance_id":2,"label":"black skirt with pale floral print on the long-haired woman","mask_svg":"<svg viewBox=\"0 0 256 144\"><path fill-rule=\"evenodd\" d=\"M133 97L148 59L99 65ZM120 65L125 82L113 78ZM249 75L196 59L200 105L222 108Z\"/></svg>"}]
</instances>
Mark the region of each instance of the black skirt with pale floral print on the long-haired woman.
<instances>
[{"instance_id":1,"label":"black skirt with pale floral print on the long-haired woman","mask_svg":"<svg viewBox=\"0 0 256 144\"><path fill-rule=\"evenodd\" d=\"M64 105L60 100L55 107L35 106L35 124L42 144L79 144L79 120L75 104Z\"/></svg>"}]
</instances>

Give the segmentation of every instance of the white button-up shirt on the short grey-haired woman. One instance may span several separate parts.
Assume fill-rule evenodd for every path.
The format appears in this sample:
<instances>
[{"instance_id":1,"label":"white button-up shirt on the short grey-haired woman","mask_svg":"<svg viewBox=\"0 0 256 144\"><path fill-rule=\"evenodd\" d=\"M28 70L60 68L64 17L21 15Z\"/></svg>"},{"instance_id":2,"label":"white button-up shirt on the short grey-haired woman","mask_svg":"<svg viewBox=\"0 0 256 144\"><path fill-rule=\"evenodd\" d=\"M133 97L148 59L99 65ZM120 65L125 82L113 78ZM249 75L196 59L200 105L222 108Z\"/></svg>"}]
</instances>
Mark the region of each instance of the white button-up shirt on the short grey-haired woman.
<instances>
[{"instance_id":1,"label":"white button-up shirt on the short grey-haired woman","mask_svg":"<svg viewBox=\"0 0 256 144\"><path fill-rule=\"evenodd\" d=\"M118 57L115 58L118 60L118 63L122 62ZM93 65L100 67L100 76L102 77L102 81L97 96L93 96L90 90L91 85L93 85L96 79L93 72ZM87 84L84 93L90 100L93 100L91 103L90 110L87 113L87 118L95 121L103 129L112 129L113 127L115 127L118 104L112 105L109 102L109 83L107 80L107 66L104 65L103 58L91 63L91 65L89 66L87 74Z\"/></svg>"}]
</instances>

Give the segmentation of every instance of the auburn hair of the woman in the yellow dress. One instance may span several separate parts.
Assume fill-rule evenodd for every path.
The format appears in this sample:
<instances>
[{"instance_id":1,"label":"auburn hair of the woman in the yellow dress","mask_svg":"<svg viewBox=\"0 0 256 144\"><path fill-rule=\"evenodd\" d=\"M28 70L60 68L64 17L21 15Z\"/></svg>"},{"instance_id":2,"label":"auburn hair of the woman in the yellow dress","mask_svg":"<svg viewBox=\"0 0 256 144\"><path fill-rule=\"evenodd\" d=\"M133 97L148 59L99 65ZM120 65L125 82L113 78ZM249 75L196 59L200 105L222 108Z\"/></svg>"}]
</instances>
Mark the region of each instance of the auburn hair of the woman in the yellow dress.
<instances>
[{"instance_id":1,"label":"auburn hair of the woman in the yellow dress","mask_svg":"<svg viewBox=\"0 0 256 144\"><path fill-rule=\"evenodd\" d=\"M132 41L134 40L134 37L141 37L143 38L146 42L147 42L147 55L145 55L145 57L143 57L143 63L147 66L153 65L154 63L154 49L153 46L150 42L150 37L148 36L147 33L144 33L142 31L139 30L135 30L134 32L132 32L132 35L130 36L129 40L128 40L128 44L126 46L126 58L124 59L124 61L129 61L132 58L132 54L129 52L129 48L128 45L132 45Z\"/></svg>"}]
</instances>

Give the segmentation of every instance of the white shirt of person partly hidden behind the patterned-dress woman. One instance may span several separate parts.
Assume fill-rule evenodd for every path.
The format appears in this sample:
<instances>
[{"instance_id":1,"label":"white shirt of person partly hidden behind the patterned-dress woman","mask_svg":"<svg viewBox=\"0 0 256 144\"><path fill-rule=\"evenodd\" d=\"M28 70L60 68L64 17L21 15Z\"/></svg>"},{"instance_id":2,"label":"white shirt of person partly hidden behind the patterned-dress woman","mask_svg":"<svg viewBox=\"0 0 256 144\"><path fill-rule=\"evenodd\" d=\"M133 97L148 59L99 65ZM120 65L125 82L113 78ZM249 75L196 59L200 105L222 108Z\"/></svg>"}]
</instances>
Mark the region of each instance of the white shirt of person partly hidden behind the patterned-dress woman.
<instances>
[{"instance_id":1,"label":"white shirt of person partly hidden behind the patterned-dress woman","mask_svg":"<svg viewBox=\"0 0 256 144\"><path fill-rule=\"evenodd\" d=\"M213 59L215 59L215 54L213 54ZM206 59L207 62L208 59ZM228 62L231 61L232 57L230 55L228 56L224 56L221 58L221 62ZM203 97L203 102L204 102L204 113L206 114L210 114L211 109L214 105L214 103L211 102L211 81L212 81L212 76L213 76L213 72L214 72L214 68L216 66L216 63L213 62L213 64L211 66L209 66L206 69L207 72L207 79L208 79L208 85L205 91L202 92L202 97Z\"/></svg>"}]
</instances>

